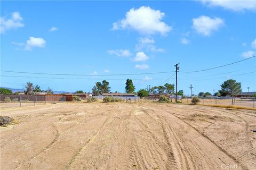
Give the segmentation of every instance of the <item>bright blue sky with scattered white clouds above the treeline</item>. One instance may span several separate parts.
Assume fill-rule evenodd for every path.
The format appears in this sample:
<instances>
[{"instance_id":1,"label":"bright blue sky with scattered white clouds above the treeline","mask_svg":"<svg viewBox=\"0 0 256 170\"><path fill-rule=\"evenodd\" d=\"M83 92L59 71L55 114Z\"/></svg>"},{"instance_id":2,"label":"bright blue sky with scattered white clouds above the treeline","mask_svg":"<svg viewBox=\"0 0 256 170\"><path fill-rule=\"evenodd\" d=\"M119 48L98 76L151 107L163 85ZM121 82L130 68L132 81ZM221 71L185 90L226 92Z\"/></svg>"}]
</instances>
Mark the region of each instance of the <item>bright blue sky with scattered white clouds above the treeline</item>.
<instances>
[{"instance_id":1,"label":"bright blue sky with scattered white clouds above the treeline","mask_svg":"<svg viewBox=\"0 0 256 170\"><path fill-rule=\"evenodd\" d=\"M255 1L1 1L1 70L92 74L1 72L1 87L22 88L31 81L42 89L88 92L104 79L111 91L123 92L127 78L137 90L163 85L173 73L99 74L175 71L176 63L180 71L195 71L236 62L255 55L255 30ZM235 79L243 91L256 91L255 65L252 58L178 73L178 90L188 95L193 84L194 94L212 93Z\"/></svg>"}]
</instances>

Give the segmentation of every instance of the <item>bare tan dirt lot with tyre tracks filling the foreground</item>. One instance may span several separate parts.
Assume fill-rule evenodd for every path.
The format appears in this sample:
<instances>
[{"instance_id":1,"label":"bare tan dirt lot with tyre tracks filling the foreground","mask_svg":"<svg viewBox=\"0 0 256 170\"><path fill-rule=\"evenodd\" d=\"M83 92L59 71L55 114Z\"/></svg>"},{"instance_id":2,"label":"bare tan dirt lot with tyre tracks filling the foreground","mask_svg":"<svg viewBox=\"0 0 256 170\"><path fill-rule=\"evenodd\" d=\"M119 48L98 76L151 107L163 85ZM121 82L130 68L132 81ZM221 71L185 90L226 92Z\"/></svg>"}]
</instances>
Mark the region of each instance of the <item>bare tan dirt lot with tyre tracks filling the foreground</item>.
<instances>
[{"instance_id":1,"label":"bare tan dirt lot with tyre tracks filling the foreground","mask_svg":"<svg viewBox=\"0 0 256 170\"><path fill-rule=\"evenodd\" d=\"M1 127L0 169L256 169L256 111L63 103L1 115L20 123Z\"/></svg>"}]
</instances>

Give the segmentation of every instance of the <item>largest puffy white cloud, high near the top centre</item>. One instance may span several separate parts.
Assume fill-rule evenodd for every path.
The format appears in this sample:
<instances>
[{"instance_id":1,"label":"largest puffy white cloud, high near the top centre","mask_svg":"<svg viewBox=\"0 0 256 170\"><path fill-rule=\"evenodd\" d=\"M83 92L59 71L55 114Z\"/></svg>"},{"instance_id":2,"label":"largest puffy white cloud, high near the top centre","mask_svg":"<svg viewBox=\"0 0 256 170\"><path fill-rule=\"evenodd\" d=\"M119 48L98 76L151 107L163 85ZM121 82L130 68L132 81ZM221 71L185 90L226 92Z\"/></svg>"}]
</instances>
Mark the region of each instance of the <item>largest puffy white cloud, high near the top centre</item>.
<instances>
[{"instance_id":1,"label":"largest puffy white cloud, high near the top centre","mask_svg":"<svg viewBox=\"0 0 256 170\"><path fill-rule=\"evenodd\" d=\"M141 6L140 8L131 8L125 15L125 19L113 23L113 30L133 29L142 34L151 35L161 33L166 35L171 31L172 27L162 21L164 13L154 10L149 6Z\"/></svg>"}]
</instances>

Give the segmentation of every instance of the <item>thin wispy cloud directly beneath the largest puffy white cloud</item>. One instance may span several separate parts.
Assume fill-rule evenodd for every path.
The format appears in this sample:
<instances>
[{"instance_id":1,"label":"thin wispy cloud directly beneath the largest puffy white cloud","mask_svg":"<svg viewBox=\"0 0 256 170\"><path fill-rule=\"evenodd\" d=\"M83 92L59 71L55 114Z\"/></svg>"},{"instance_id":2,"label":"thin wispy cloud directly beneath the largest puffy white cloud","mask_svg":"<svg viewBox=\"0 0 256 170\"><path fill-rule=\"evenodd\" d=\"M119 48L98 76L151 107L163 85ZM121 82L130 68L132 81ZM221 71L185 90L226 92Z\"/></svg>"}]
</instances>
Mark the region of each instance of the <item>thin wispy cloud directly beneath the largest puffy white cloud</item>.
<instances>
[{"instance_id":1,"label":"thin wispy cloud directly beneath the largest puffy white cloud","mask_svg":"<svg viewBox=\"0 0 256 170\"><path fill-rule=\"evenodd\" d=\"M151 38L139 38L139 44L135 46L135 50L141 51L145 49L146 51L150 52L164 52L162 48L156 48L154 39Z\"/></svg>"}]
</instances>

